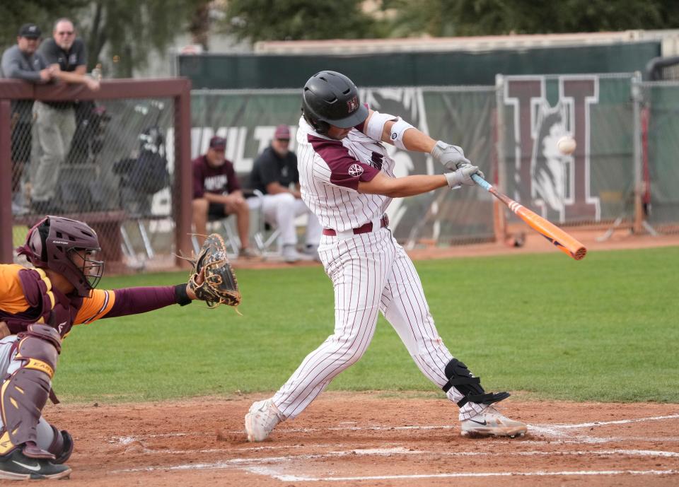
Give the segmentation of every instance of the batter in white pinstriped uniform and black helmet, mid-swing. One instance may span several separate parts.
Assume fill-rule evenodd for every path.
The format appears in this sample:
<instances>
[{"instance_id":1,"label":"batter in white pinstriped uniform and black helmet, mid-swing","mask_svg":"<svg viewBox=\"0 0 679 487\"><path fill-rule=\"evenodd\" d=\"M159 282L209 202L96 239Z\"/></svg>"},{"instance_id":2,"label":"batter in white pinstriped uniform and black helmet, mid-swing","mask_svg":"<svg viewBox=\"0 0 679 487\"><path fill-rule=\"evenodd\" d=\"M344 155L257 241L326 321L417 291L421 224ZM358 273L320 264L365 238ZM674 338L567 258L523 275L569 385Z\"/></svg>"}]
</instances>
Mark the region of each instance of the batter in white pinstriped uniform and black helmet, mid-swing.
<instances>
[{"instance_id":1,"label":"batter in white pinstriped uniform and black helmet, mid-swing","mask_svg":"<svg viewBox=\"0 0 679 487\"><path fill-rule=\"evenodd\" d=\"M493 406L509 394L485 392L480 378L443 345L417 271L391 235L385 215L393 198L473 186L471 175L479 169L461 148L361 105L354 83L335 71L321 71L307 81L302 114L297 131L301 194L324 228L318 252L335 288L335 332L274 397L250 407L245 415L248 440L262 441L279 422L298 416L337 374L359 360L373 337L378 312L419 370L459 406L464 435L526 433L526 424ZM384 143L430 153L446 173L395 177Z\"/></svg>"}]
</instances>

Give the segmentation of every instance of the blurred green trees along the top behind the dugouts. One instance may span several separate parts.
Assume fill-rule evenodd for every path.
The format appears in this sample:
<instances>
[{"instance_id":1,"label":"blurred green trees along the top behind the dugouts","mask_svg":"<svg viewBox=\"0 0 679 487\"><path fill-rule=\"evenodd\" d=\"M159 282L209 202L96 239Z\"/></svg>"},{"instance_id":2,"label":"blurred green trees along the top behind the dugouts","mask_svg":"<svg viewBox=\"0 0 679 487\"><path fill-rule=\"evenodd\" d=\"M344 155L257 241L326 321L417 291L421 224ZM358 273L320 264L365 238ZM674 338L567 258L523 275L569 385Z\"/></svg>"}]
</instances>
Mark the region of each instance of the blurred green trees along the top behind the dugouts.
<instances>
[{"instance_id":1,"label":"blurred green trees along the top behind the dugouts","mask_svg":"<svg viewBox=\"0 0 679 487\"><path fill-rule=\"evenodd\" d=\"M679 28L679 1L667 0L3 0L0 47L19 26L74 20L106 77L131 77L175 37L209 46L211 15L239 40L363 39ZM105 53L105 58L103 58Z\"/></svg>"}]
</instances>

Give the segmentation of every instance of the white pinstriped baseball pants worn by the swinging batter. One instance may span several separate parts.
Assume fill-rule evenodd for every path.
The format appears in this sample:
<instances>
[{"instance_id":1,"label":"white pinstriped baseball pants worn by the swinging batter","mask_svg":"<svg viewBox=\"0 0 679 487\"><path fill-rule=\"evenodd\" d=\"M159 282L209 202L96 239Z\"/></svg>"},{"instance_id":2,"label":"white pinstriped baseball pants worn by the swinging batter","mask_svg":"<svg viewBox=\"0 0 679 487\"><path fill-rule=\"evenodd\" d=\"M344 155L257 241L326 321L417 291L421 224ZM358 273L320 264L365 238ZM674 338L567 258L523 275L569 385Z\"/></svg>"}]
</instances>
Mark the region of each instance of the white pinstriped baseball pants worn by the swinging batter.
<instances>
[{"instance_id":1,"label":"white pinstriped baseball pants worn by the swinging batter","mask_svg":"<svg viewBox=\"0 0 679 487\"><path fill-rule=\"evenodd\" d=\"M444 369L453 358L434 326L410 257L390 230L359 235L323 235L318 254L335 287L335 333L306 356L274 395L286 418L294 418L342 370L356 363L370 344L382 312L403 341L419 370L441 388L448 382ZM448 398L463 398L455 387ZM482 411L467 403L460 420Z\"/></svg>"}]
</instances>

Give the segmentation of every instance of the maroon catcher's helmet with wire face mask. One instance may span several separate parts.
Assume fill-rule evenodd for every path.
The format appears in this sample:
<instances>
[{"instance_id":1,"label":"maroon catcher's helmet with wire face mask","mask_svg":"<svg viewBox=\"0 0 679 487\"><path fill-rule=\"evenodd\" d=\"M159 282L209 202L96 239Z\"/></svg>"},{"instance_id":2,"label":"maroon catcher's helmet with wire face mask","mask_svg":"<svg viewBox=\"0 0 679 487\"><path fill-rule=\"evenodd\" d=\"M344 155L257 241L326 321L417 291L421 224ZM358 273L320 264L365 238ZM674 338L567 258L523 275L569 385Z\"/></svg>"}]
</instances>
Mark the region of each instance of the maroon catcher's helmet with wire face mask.
<instances>
[{"instance_id":1,"label":"maroon catcher's helmet with wire face mask","mask_svg":"<svg viewBox=\"0 0 679 487\"><path fill-rule=\"evenodd\" d=\"M100 250L96 232L86 223L46 216L28 230L26 242L17 253L36 267L62 274L85 298L104 273L104 262L93 258Z\"/></svg>"}]
</instances>

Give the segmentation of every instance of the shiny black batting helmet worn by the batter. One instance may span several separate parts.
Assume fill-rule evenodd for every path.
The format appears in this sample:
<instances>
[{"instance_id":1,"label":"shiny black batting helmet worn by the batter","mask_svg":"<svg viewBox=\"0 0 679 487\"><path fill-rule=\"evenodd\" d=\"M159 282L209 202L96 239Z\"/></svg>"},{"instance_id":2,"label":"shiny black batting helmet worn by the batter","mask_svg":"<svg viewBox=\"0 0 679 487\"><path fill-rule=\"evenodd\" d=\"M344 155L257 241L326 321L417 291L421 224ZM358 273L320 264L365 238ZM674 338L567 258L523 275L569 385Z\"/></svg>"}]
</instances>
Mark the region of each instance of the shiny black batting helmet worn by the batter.
<instances>
[{"instance_id":1,"label":"shiny black batting helmet worn by the batter","mask_svg":"<svg viewBox=\"0 0 679 487\"><path fill-rule=\"evenodd\" d=\"M368 118L354 82L337 71L320 71L304 85L302 115L319 134L329 125L348 129Z\"/></svg>"}]
</instances>

